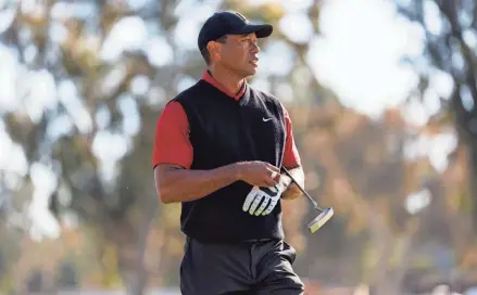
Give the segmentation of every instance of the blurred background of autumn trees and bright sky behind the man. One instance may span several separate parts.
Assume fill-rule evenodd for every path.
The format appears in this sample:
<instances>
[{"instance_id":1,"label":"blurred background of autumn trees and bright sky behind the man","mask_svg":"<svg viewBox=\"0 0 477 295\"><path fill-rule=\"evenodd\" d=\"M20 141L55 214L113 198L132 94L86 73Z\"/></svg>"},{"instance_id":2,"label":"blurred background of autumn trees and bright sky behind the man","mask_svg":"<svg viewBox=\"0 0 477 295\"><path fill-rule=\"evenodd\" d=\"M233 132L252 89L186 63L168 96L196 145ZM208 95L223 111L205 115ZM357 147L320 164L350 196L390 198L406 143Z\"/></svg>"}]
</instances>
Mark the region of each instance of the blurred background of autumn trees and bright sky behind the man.
<instances>
[{"instance_id":1,"label":"blurred background of autumn trees and bright sky behind the man","mask_svg":"<svg viewBox=\"0 0 477 295\"><path fill-rule=\"evenodd\" d=\"M335 208L285 202L306 294L477 294L476 0L0 0L0 294L179 294L155 124L226 9Z\"/></svg>"}]
</instances>

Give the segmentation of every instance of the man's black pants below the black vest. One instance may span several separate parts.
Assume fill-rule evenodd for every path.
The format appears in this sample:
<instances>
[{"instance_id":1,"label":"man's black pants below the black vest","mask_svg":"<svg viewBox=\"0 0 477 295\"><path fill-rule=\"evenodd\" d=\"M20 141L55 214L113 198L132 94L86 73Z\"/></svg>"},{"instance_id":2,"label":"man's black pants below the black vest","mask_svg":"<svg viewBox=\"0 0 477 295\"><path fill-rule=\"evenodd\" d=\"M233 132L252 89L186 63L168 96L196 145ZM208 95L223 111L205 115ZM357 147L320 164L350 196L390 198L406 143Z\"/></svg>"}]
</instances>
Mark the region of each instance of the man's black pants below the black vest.
<instances>
[{"instance_id":1,"label":"man's black pants below the black vest","mask_svg":"<svg viewBox=\"0 0 477 295\"><path fill-rule=\"evenodd\" d=\"M183 295L302 295L296 251L285 241L205 244L187 239L180 265Z\"/></svg>"}]
</instances>

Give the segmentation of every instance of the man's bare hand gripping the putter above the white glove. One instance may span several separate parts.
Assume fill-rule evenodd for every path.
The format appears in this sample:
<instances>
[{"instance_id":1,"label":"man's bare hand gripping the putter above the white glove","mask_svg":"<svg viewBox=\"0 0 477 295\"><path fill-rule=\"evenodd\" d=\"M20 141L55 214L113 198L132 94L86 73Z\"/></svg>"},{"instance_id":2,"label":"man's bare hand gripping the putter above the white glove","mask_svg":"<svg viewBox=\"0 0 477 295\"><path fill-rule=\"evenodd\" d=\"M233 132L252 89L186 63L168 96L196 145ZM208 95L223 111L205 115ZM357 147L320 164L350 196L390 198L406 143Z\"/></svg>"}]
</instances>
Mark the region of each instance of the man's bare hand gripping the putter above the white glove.
<instances>
[{"instance_id":1,"label":"man's bare hand gripping the putter above the white glove","mask_svg":"<svg viewBox=\"0 0 477 295\"><path fill-rule=\"evenodd\" d=\"M280 180L280 169L266 162L242 162L237 167L239 179L251 185L271 188ZM276 175L274 178L273 172Z\"/></svg>"}]
</instances>

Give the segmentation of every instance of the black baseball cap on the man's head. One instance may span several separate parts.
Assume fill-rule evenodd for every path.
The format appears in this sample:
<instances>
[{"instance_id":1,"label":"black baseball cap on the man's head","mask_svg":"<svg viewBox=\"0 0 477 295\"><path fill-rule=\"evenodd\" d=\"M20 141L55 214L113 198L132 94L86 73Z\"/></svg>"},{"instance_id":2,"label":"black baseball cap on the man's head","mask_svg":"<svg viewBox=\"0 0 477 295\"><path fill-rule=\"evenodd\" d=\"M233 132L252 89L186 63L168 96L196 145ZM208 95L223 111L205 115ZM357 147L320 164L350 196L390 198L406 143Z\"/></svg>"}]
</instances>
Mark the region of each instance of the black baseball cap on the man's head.
<instances>
[{"instance_id":1,"label":"black baseball cap on the man's head","mask_svg":"<svg viewBox=\"0 0 477 295\"><path fill-rule=\"evenodd\" d=\"M199 50L203 50L210 41L225 35L247 35L255 33L258 38L272 35L271 24L252 24L243 15L235 11L216 12L203 24L198 38Z\"/></svg>"}]
</instances>

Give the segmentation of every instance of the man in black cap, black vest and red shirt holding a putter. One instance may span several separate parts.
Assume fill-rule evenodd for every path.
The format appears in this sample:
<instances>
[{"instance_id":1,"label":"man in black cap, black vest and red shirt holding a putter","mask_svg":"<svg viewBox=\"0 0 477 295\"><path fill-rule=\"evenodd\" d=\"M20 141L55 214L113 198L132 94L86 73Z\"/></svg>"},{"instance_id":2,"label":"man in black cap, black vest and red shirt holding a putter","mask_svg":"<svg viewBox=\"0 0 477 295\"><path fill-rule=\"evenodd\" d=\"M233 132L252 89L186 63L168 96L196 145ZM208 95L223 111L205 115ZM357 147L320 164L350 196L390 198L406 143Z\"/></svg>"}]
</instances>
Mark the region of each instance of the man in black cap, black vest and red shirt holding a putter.
<instances>
[{"instance_id":1,"label":"man in black cap, black vest and red shirt holding a putter","mask_svg":"<svg viewBox=\"0 0 477 295\"><path fill-rule=\"evenodd\" d=\"M301 193L279 167L304 182L290 117L246 81L272 31L213 14L198 38L208 70L158 120L154 180L164 204L181 203L184 295L303 294L281 227L280 198Z\"/></svg>"}]
</instances>

